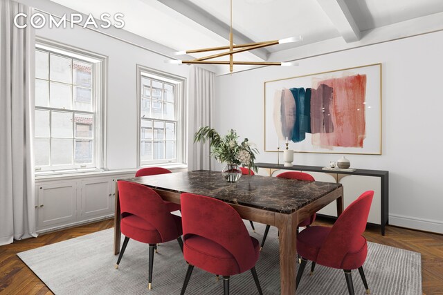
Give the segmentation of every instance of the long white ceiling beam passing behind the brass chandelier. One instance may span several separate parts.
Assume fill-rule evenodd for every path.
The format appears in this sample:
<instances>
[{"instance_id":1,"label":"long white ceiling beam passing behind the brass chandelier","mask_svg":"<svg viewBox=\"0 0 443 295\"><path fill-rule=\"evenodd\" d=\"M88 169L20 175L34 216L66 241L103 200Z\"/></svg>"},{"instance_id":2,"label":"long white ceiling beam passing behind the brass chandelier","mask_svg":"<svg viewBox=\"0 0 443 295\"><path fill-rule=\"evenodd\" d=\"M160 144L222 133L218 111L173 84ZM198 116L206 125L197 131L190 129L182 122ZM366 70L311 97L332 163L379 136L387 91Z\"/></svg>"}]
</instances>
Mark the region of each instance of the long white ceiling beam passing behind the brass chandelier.
<instances>
[{"instance_id":1,"label":"long white ceiling beam passing behind the brass chandelier","mask_svg":"<svg viewBox=\"0 0 443 295\"><path fill-rule=\"evenodd\" d=\"M181 15L184 15L185 17L192 19L192 21L199 23L199 25L204 26L208 30L215 32L215 34L224 37L226 41L229 40L230 26L227 23L224 23L223 21L216 19L215 17L213 17L213 15L210 15L208 12L206 12L206 10L201 9L199 6L195 5L191 1L159 0L159 2L179 12ZM233 28L233 35L234 35L235 44L247 44L247 43L256 42L252 39L249 39L241 32L238 32L234 28ZM188 49L197 49L197 48L188 48ZM182 50L182 49L177 48L177 50ZM271 55L271 52L264 48L251 50L251 53L264 61L266 61L269 55Z\"/></svg>"}]
</instances>

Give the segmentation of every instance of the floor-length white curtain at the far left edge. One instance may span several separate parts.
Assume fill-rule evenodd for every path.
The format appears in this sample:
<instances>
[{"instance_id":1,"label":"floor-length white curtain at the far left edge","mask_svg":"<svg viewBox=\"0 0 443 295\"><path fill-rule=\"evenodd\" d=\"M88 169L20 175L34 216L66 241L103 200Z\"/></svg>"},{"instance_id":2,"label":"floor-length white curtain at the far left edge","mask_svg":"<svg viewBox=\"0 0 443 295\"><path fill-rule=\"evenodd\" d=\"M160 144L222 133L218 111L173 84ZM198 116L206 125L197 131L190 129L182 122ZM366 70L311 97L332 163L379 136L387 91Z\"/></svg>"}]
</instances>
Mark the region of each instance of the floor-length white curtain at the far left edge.
<instances>
[{"instance_id":1,"label":"floor-length white curtain at the far left edge","mask_svg":"<svg viewBox=\"0 0 443 295\"><path fill-rule=\"evenodd\" d=\"M0 245L35 234L35 32L17 28L27 6L0 1Z\"/></svg>"}]
</instances>

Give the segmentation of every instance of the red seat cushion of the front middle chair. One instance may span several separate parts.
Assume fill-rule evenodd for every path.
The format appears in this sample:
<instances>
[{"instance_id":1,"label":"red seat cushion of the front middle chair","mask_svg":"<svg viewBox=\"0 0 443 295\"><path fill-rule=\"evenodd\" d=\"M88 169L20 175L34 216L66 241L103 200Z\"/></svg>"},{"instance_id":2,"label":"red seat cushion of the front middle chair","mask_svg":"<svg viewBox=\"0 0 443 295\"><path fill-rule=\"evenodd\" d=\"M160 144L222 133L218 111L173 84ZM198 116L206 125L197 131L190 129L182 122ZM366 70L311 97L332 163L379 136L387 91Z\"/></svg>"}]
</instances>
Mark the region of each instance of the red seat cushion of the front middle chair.
<instances>
[{"instance_id":1,"label":"red seat cushion of the front middle chair","mask_svg":"<svg viewBox=\"0 0 443 295\"><path fill-rule=\"evenodd\" d=\"M246 269L254 267L260 254L258 240L251 237L251 241L254 252L247 259ZM188 235L185 237L183 246L183 256L190 265L220 276L232 276L242 272L234 256L213 240L197 235Z\"/></svg>"}]
</instances>

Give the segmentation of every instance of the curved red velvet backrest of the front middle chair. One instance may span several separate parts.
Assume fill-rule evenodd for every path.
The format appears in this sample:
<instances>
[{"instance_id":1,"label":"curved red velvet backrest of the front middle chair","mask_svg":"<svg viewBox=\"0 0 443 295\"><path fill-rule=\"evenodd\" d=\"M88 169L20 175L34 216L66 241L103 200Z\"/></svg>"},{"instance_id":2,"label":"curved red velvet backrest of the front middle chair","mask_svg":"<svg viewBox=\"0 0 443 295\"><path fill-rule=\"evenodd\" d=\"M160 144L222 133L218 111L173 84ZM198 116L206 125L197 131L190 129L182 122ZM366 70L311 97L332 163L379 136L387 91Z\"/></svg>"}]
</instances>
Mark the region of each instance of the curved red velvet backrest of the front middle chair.
<instances>
[{"instance_id":1,"label":"curved red velvet backrest of the front middle chair","mask_svg":"<svg viewBox=\"0 0 443 295\"><path fill-rule=\"evenodd\" d=\"M198 235L217 242L237 260L240 272L248 270L254 247L237 211L225 202L192 193L182 193L180 200L183 239Z\"/></svg>"}]
</instances>

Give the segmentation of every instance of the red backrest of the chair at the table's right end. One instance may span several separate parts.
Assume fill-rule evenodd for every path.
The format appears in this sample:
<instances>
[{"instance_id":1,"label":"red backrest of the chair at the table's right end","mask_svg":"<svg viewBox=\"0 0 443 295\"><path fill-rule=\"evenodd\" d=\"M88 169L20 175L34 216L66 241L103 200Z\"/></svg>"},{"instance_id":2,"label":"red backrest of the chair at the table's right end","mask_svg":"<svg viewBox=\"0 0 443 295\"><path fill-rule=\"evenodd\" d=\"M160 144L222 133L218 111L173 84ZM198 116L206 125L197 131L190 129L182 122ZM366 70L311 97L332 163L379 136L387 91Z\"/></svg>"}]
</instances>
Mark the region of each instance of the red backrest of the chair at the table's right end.
<instances>
[{"instance_id":1,"label":"red backrest of the chair at the table's right end","mask_svg":"<svg viewBox=\"0 0 443 295\"><path fill-rule=\"evenodd\" d=\"M374 191L365 191L341 213L318 251L318 263L327 260L330 267L341 268L349 250L365 241L361 235L366 229L373 197Z\"/></svg>"}]
</instances>

